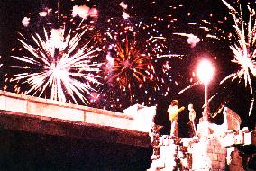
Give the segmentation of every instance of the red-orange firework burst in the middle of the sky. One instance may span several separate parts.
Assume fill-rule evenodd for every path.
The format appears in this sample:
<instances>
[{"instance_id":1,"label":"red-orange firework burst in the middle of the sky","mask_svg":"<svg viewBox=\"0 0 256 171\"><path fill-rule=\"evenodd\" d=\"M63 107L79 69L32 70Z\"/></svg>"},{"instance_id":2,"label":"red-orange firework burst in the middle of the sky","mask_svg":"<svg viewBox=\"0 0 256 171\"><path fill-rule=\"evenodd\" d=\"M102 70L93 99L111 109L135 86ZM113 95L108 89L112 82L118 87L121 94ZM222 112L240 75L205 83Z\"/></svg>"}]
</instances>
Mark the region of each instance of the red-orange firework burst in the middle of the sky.
<instances>
[{"instance_id":1,"label":"red-orange firework burst in the middle of the sky","mask_svg":"<svg viewBox=\"0 0 256 171\"><path fill-rule=\"evenodd\" d=\"M127 37L121 42L116 42L114 58L111 58L112 67L106 79L114 82L121 88L131 89L131 84L136 82L142 86L146 80L152 80L154 67L151 64L151 56L142 52L135 40L130 41ZM110 58L109 56L107 56Z\"/></svg>"}]
</instances>

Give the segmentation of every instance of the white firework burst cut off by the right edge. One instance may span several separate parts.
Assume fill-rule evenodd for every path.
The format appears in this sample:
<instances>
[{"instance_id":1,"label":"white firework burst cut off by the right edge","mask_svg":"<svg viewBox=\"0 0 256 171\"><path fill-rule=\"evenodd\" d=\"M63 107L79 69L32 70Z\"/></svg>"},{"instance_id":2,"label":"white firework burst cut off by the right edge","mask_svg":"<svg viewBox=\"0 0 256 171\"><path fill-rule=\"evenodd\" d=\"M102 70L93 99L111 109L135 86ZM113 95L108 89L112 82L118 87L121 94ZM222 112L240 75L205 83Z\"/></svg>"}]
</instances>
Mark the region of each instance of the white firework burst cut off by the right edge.
<instances>
[{"instance_id":1,"label":"white firework burst cut off by the right edge","mask_svg":"<svg viewBox=\"0 0 256 171\"><path fill-rule=\"evenodd\" d=\"M244 79L245 87L250 85L251 93L252 93L252 85L251 85L251 76L256 76L256 19L255 19L255 10L251 9L248 5L248 10L250 13L248 23L242 19L242 10L240 6L240 13L235 10L230 4L226 1L222 0L223 3L229 8L230 14L233 17L233 45L230 46L230 49L233 51L234 59L233 63L240 65L241 69L237 72L226 76L224 80L221 82L224 83L225 80L232 78L232 80L239 78L240 80ZM247 28L246 28L247 27Z\"/></svg>"}]
</instances>

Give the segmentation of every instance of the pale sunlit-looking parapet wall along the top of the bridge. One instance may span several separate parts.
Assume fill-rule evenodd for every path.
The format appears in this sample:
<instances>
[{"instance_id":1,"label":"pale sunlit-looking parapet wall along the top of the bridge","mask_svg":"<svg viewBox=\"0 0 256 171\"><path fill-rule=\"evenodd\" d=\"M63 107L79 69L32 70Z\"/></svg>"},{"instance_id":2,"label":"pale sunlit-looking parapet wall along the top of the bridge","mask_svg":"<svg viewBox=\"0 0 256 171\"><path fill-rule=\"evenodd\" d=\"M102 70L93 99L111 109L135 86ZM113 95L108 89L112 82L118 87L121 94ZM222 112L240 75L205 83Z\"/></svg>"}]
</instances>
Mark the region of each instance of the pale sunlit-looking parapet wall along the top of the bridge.
<instances>
[{"instance_id":1,"label":"pale sunlit-looking parapet wall along the top of the bridge","mask_svg":"<svg viewBox=\"0 0 256 171\"><path fill-rule=\"evenodd\" d=\"M144 112L155 113L155 108L143 107ZM78 104L61 103L24 94L14 94L0 91L0 110L19 112L23 114L58 118L69 121L82 121L101 126L109 126L125 130L151 131L149 114L111 112ZM144 118L143 118L144 117Z\"/></svg>"}]
</instances>

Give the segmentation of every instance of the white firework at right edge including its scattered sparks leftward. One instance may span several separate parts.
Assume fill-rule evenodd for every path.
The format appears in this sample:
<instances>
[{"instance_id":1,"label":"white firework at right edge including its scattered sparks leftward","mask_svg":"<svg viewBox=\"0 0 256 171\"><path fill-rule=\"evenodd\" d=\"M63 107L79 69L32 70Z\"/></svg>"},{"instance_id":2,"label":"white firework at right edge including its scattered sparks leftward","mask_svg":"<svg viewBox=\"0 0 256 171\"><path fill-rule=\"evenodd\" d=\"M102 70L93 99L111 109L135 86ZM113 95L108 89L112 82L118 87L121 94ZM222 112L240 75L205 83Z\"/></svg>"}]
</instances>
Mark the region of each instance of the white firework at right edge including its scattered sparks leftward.
<instances>
[{"instance_id":1,"label":"white firework at right edge including its scattered sparks leftward","mask_svg":"<svg viewBox=\"0 0 256 171\"><path fill-rule=\"evenodd\" d=\"M224 5L229 9L229 14L232 16L233 25L232 28L228 28L225 31L220 26L215 25L207 20L202 20L207 26L200 25L199 28L206 31L206 40L222 40L227 41L230 44L230 49L233 52L233 63L239 65L240 69L226 76L220 84L223 84L228 79L244 79L245 87L250 86L251 93L251 75L256 76L256 20L255 10L251 9L250 4L247 5L248 16L242 11L242 4L238 0L238 7L233 7L226 1L222 0ZM211 15L212 17L212 15ZM224 24L228 18L224 17L224 20L219 20L218 23ZM197 25L197 23L188 23L190 25ZM232 31L230 31L232 30ZM187 34L179 34L186 36Z\"/></svg>"}]
</instances>

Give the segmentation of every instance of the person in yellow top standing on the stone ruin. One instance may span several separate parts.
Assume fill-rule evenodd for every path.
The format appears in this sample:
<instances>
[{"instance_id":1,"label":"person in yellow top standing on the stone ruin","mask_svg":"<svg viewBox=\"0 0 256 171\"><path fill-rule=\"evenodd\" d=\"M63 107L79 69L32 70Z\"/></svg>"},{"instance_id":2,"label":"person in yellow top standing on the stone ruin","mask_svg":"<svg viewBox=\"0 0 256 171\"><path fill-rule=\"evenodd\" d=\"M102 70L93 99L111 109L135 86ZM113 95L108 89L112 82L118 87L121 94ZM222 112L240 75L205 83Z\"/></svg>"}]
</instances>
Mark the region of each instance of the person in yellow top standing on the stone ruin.
<instances>
[{"instance_id":1,"label":"person in yellow top standing on the stone ruin","mask_svg":"<svg viewBox=\"0 0 256 171\"><path fill-rule=\"evenodd\" d=\"M169 121L171 122L170 135L178 137L178 113L185 107L178 108L178 100L171 101L167 112L169 112Z\"/></svg>"}]
</instances>

